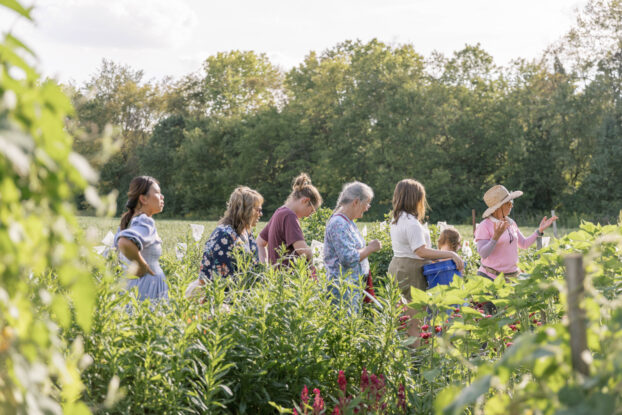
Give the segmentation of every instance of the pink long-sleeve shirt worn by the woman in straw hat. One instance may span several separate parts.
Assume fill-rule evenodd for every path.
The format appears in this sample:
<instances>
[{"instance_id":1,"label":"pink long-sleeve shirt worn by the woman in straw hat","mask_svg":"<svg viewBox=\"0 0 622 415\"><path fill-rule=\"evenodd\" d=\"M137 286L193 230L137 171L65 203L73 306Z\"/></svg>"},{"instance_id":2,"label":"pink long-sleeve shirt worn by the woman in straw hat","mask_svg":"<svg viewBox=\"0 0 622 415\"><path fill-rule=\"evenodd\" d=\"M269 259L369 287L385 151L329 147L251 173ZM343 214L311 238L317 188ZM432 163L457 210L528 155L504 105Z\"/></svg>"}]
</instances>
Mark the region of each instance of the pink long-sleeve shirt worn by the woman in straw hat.
<instances>
[{"instance_id":1,"label":"pink long-sleeve shirt worn by the woman in straw hat","mask_svg":"<svg viewBox=\"0 0 622 415\"><path fill-rule=\"evenodd\" d=\"M475 243L482 258L482 264L478 271L492 279L495 279L496 275L486 271L484 266L506 274L518 271L518 248L529 248L538 237L537 231L534 231L529 237L523 236L516 222L510 218L508 221L510 226L496 243L492 237L495 234L495 222L499 222L499 220L489 216L480 222L475 229Z\"/></svg>"}]
</instances>

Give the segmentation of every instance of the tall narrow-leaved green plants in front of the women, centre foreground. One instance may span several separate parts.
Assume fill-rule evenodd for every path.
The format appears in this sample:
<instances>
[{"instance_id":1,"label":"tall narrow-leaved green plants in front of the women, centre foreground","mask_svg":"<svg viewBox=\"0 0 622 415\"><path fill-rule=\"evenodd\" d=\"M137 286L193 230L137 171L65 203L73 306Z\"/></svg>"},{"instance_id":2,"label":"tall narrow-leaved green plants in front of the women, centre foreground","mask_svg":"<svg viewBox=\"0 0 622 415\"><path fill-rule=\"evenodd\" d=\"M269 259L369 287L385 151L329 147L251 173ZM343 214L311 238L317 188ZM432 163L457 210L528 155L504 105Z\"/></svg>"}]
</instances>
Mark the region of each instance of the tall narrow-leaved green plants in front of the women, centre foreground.
<instances>
[{"instance_id":1,"label":"tall narrow-leaved green plants in front of the women, centre foreground","mask_svg":"<svg viewBox=\"0 0 622 415\"><path fill-rule=\"evenodd\" d=\"M383 374L393 401L398 385L408 384L394 282L379 289L378 305L351 315L331 303L325 275L313 280L303 261L294 269L253 269L239 258L239 277L208 284L199 304L183 297L201 254L199 243L186 243L184 258L162 261L169 303L139 304L116 278L98 278L93 330L74 327L71 334L84 336L93 358L82 375L90 406L103 410L101 402L112 402L107 413L273 413L271 402L291 407L305 384L337 396L340 369ZM111 379L120 391L114 401L107 398Z\"/></svg>"}]
</instances>

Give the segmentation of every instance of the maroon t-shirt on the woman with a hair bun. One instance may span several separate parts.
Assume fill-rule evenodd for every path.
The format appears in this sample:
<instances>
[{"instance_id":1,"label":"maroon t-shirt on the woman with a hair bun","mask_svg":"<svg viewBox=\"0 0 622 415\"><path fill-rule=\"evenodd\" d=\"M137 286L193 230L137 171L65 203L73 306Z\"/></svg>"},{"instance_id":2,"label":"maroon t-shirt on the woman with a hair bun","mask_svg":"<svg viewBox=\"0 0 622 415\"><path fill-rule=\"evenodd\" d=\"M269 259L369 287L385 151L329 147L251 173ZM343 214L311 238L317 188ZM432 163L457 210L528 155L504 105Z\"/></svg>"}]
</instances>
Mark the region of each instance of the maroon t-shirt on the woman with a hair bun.
<instances>
[{"instance_id":1,"label":"maroon t-shirt on the woman with a hair bun","mask_svg":"<svg viewBox=\"0 0 622 415\"><path fill-rule=\"evenodd\" d=\"M271 264L279 262L278 252L281 251L282 245L285 245L285 255L289 257L296 254L294 242L305 239L298 217L293 210L285 206L281 206L274 212L259 236L264 241L268 241L268 258ZM288 258L283 258L283 264L289 264Z\"/></svg>"}]
</instances>

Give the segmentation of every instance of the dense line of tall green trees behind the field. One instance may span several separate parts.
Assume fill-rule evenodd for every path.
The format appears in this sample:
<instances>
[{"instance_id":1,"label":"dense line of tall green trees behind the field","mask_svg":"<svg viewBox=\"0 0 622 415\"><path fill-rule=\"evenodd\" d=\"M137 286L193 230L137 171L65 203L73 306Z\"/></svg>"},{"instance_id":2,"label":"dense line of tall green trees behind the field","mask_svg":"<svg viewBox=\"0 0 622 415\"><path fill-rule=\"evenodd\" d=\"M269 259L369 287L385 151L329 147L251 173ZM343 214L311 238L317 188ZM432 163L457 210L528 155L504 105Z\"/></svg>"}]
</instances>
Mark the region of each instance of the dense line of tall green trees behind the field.
<instances>
[{"instance_id":1,"label":"dense line of tall green trees behind the field","mask_svg":"<svg viewBox=\"0 0 622 415\"><path fill-rule=\"evenodd\" d=\"M301 171L332 206L360 180L381 218L397 181L427 190L430 219L465 222L494 183L521 189L516 215L617 219L622 200L622 6L592 0L535 60L495 64L480 45L424 57L412 45L345 41L284 71L265 54L208 57L182 79L145 80L104 60L82 85L75 147L100 190L153 175L166 214L217 218L245 184L271 213ZM103 151L116 149L118 151ZM105 154L112 154L105 156Z\"/></svg>"}]
</instances>

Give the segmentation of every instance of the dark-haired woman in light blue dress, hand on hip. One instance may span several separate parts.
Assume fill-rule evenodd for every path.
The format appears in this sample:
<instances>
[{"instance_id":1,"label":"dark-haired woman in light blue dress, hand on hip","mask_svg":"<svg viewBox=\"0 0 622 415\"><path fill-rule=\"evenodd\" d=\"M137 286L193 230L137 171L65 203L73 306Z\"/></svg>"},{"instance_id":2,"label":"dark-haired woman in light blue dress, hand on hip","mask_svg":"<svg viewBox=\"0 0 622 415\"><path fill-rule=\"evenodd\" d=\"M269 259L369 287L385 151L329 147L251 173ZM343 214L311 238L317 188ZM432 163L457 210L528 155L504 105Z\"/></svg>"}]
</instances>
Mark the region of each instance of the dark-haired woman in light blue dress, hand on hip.
<instances>
[{"instance_id":1,"label":"dark-haired woman in light blue dress, hand on hip","mask_svg":"<svg viewBox=\"0 0 622 415\"><path fill-rule=\"evenodd\" d=\"M138 278L128 281L128 289L138 287L141 301L168 299L166 276L158 262L162 255L162 240L152 217L164 208L160 184L153 177L134 177L127 199L127 211L121 217L114 244L121 252L123 262L137 265L135 275Z\"/></svg>"}]
</instances>

